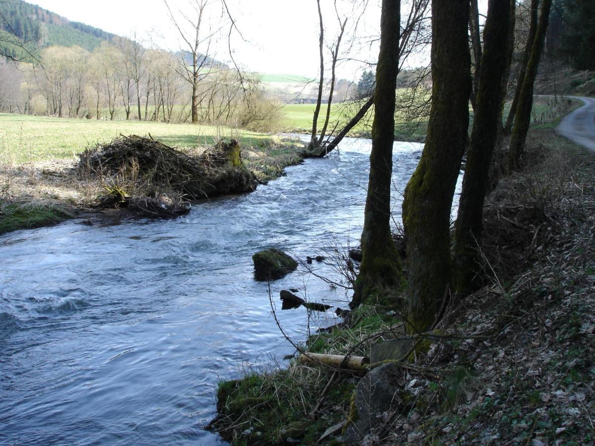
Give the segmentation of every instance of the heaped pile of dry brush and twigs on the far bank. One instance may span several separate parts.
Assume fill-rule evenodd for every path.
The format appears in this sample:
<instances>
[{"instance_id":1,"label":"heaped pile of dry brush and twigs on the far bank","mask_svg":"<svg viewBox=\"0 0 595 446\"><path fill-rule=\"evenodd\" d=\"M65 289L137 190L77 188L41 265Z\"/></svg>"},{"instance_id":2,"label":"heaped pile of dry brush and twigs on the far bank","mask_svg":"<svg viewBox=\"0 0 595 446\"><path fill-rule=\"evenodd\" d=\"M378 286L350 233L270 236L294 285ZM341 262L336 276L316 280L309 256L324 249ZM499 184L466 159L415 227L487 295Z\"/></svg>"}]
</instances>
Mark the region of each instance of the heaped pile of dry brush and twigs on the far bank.
<instances>
[{"instance_id":1,"label":"heaped pile of dry brush and twigs on the far bank","mask_svg":"<svg viewBox=\"0 0 595 446\"><path fill-rule=\"evenodd\" d=\"M242 167L240 146L223 140L199 154L184 152L152 137L120 136L79 155L77 173L101 182L107 194L98 208L127 208L143 216L189 211L189 200L256 189L256 177Z\"/></svg>"}]
</instances>

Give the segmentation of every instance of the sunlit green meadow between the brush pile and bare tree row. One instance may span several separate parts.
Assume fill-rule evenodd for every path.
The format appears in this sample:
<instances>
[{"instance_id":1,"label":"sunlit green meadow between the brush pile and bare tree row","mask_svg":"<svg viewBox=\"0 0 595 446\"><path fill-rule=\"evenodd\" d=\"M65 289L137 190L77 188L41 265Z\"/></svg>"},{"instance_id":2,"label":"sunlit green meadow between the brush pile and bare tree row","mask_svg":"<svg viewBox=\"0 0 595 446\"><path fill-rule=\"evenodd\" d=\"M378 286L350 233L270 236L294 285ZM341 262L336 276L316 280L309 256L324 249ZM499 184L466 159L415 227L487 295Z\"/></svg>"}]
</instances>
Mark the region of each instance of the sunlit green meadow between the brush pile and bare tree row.
<instances>
[{"instance_id":1,"label":"sunlit green meadow between the brush pile and bare tree row","mask_svg":"<svg viewBox=\"0 0 595 446\"><path fill-rule=\"evenodd\" d=\"M259 146L273 137L239 131L240 143ZM0 162L73 158L87 146L111 141L121 134L147 136L179 147L212 145L237 131L214 125L165 124L144 121L96 121L0 114Z\"/></svg>"}]
</instances>

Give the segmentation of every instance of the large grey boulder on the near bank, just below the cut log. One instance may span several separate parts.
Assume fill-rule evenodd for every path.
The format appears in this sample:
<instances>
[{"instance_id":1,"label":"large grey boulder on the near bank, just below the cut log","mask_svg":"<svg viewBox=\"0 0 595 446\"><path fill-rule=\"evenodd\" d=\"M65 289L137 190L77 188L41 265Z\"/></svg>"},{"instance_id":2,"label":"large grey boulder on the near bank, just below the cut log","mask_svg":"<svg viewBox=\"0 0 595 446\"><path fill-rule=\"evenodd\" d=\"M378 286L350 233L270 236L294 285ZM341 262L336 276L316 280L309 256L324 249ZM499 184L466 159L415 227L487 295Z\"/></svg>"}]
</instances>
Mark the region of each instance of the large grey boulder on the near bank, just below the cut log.
<instances>
[{"instance_id":1,"label":"large grey boulder on the near bank, just below the cut log","mask_svg":"<svg viewBox=\"0 0 595 446\"><path fill-rule=\"evenodd\" d=\"M384 425L392 413L402 408L400 396L402 372L388 363L372 369L355 388L350 423L343 434L346 445L361 445L369 435Z\"/></svg>"}]
</instances>

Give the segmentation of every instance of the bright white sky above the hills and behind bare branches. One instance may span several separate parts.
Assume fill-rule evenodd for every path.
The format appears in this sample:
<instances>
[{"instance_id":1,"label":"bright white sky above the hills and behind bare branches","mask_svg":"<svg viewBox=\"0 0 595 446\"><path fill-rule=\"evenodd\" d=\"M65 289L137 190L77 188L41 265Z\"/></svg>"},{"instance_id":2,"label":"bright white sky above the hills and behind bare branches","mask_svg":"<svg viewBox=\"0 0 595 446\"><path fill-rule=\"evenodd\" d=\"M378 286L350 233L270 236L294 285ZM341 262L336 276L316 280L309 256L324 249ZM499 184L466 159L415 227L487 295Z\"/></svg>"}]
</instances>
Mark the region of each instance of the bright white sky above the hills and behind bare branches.
<instances>
[{"instance_id":1,"label":"bright white sky above the hills and behind bare branches","mask_svg":"<svg viewBox=\"0 0 595 446\"><path fill-rule=\"evenodd\" d=\"M29 0L42 8L56 12L69 20L80 21L120 36L137 36L157 41L168 49L179 48L179 36L168 17L163 0ZM190 1L169 0L177 14L177 8L185 8ZM380 23L380 0L339 0L343 2L342 14L349 17L353 26L362 4L366 12L358 23L361 37L357 49L358 58L368 61L377 54L371 40L378 35ZM237 32L231 36L234 59L242 68L271 74L299 74L316 77L318 73L318 12L316 0L227 0L231 14L236 20ZM337 30L337 17L333 1L321 0L326 36L333 40ZM229 21L222 17L221 2L212 0L209 23L212 29L220 29L215 49L217 59L230 59L227 49ZM153 36L153 37L149 37ZM248 43L245 42L248 40ZM328 58L328 52L325 54ZM419 63L419 62L418 62ZM414 62L415 65L415 62ZM339 77L353 79L359 76L361 62L343 62Z\"/></svg>"}]
</instances>

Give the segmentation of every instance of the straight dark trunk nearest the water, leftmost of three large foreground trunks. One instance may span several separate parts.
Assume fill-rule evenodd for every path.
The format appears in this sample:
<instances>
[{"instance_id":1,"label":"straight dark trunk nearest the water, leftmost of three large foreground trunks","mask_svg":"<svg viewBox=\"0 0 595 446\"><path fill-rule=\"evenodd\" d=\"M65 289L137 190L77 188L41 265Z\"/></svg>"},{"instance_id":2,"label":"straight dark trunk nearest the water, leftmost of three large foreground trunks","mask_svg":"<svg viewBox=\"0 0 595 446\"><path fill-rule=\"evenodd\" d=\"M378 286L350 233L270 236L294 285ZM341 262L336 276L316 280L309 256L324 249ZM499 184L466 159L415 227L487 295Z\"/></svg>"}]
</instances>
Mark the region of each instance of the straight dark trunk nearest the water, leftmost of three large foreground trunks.
<instances>
[{"instance_id":1,"label":"straight dark trunk nearest the water, leftmost of three large foreground trunks","mask_svg":"<svg viewBox=\"0 0 595 446\"><path fill-rule=\"evenodd\" d=\"M352 306L362 303L372 294L394 290L403 282L402 265L390 233L394 106L399 73L399 0L383 0L380 36L368 196L361 238L362 263Z\"/></svg>"}]
</instances>

